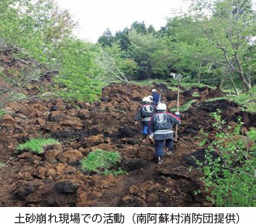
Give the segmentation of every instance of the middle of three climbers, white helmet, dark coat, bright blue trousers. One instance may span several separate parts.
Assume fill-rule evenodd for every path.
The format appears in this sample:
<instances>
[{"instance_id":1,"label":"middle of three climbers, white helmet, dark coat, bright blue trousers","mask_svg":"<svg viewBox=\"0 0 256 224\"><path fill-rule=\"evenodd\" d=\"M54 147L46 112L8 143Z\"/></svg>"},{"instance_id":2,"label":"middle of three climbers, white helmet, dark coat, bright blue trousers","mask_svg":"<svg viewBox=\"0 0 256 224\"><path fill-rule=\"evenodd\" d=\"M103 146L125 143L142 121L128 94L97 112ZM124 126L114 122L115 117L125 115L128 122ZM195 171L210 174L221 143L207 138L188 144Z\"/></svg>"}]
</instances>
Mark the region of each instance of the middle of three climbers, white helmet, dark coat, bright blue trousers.
<instances>
[{"instance_id":1,"label":"middle of three climbers, white helmet, dark coat, bright blue trousers","mask_svg":"<svg viewBox=\"0 0 256 224\"><path fill-rule=\"evenodd\" d=\"M156 106L151 105L151 100L149 97L144 97L142 100L142 106L137 111L137 114L135 115L135 124L138 123L138 120L141 121L142 124L142 137L140 138L140 141L144 142L148 135L148 125L150 122L151 117L156 112Z\"/></svg>"}]
</instances>

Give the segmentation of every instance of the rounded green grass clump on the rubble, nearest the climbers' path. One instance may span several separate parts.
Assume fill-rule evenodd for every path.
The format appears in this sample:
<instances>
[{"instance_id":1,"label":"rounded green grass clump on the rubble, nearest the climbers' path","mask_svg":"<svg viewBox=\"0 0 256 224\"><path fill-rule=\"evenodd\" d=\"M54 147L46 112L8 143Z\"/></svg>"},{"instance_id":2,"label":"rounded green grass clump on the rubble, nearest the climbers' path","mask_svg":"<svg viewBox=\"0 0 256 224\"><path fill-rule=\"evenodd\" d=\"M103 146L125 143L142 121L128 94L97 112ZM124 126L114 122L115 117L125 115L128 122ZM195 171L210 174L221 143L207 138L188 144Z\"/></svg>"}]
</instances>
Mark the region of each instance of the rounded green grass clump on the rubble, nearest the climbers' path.
<instances>
[{"instance_id":1,"label":"rounded green grass clump on the rubble, nearest the climbers' path","mask_svg":"<svg viewBox=\"0 0 256 224\"><path fill-rule=\"evenodd\" d=\"M81 160L81 169L83 171L94 171L105 175L117 175L121 170L112 170L121 161L118 152L95 150L88 154L88 158ZM122 173L123 174L123 173Z\"/></svg>"}]
</instances>

